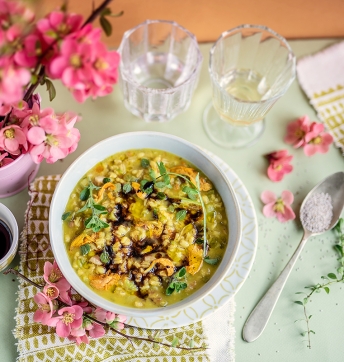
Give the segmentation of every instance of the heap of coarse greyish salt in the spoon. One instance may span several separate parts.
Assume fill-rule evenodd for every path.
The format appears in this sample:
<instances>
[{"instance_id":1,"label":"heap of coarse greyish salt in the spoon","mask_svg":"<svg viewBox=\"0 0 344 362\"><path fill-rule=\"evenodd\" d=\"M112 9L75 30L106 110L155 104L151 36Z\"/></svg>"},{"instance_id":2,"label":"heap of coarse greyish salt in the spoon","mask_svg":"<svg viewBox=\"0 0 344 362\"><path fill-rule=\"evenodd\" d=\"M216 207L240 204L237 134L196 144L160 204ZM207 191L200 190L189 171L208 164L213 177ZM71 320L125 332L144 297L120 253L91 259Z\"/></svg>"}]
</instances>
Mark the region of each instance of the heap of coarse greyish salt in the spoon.
<instances>
[{"instance_id":1,"label":"heap of coarse greyish salt in the spoon","mask_svg":"<svg viewBox=\"0 0 344 362\"><path fill-rule=\"evenodd\" d=\"M301 210L302 225L313 233L321 233L328 229L333 216L331 196L321 192L312 195Z\"/></svg>"}]
</instances>

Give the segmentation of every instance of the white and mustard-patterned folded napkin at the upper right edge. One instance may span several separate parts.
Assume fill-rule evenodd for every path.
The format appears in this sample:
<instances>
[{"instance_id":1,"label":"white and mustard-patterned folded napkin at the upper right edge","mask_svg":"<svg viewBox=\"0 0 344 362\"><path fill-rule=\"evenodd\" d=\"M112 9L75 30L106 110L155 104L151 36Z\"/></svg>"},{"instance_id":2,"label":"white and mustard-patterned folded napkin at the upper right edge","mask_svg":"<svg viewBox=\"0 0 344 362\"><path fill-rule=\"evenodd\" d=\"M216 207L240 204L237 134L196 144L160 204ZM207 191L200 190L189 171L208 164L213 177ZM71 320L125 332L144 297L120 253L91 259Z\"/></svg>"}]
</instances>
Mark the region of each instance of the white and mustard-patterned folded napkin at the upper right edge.
<instances>
[{"instance_id":1,"label":"white and mustard-patterned folded napkin at the upper right edge","mask_svg":"<svg viewBox=\"0 0 344 362\"><path fill-rule=\"evenodd\" d=\"M318 117L344 154L344 42L301 58L297 75Z\"/></svg>"}]
</instances>

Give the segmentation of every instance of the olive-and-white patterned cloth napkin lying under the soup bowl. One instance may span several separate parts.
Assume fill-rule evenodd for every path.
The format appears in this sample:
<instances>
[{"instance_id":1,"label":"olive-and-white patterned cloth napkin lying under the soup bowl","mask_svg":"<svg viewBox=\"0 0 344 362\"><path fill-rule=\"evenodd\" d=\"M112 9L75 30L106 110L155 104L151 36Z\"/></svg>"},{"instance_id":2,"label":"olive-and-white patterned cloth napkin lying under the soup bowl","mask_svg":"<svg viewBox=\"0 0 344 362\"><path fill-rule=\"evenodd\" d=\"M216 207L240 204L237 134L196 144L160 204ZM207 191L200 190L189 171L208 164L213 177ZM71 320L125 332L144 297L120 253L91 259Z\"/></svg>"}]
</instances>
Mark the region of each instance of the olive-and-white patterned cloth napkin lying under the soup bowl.
<instances>
[{"instance_id":1,"label":"olive-and-white patterned cloth napkin lying under the soup bowl","mask_svg":"<svg viewBox=\"0 0 344 362\"><path fill-rule=\"evenodd\" d=\"M60 179L56 176L43 176L36 179L29 189L30 201L25 216L25 227L21 235L20 272L37 284L43 284L45 261L52 262L54 255L49 242L49 207ZM36 304L33 296L37 289L20 280L18 307L14 335L18 340L19 362L38 361L83 361L83 362L234 362L234 310L231 301L212 316L189 326L162 330L159 338L171 343L176 336L181 343L188 345L193 339L195 345L204 341L208 349L184 351L178 348L158 346L152 348L150 342L132 340L132 343L112 330L104 337L90 339L89 344L77 346L67 338L60 338L55 330L33 321ZM152 330L126 328L131 336L148 336Z\"/></svg>"}]
</instances>

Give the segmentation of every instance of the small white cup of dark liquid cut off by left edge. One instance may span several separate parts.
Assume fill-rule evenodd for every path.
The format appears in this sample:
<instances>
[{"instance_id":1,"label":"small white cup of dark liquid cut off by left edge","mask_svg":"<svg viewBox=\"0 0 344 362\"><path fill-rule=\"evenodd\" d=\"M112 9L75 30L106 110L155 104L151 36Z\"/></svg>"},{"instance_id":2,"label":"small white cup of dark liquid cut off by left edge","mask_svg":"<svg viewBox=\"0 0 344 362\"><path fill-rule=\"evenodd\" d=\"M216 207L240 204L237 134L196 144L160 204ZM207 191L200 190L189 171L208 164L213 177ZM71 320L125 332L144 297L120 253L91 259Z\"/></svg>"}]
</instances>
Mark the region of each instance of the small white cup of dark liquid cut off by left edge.
<instances>
[{"instance_id":1,"label":"small white cup of dark liquid cut off by left edge","mask_svg":"<svg viewBox=\"0 0 344 362\"><path fill-rule=\"evenodd\" d=\"M0 204L0 271L7 268L18 250L18 224L12 212Z\"/></svg>"}]
</instances>

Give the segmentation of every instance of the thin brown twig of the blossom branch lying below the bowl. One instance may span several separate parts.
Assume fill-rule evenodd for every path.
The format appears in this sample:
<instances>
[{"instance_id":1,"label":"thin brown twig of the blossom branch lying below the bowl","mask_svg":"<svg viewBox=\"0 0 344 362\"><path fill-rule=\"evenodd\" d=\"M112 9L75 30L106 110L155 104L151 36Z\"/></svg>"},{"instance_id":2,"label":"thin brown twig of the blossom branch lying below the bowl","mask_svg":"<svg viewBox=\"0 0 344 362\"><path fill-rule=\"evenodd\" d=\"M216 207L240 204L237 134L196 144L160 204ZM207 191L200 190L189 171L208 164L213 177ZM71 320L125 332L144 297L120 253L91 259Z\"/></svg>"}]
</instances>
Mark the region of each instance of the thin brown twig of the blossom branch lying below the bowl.
<instances>
[{"instance_id":1,"label":"thin brown twig of the blossom branch lying below the bowl","mask_svg":"<svg viewBox=\"0 0 344 362\"><path fill-rule=\"evenodd\" d=\"M22 278L23 280L25 280L27 283L33 285L34 287L36 287L37 289L39 290L42 290L43 289L43 286L42 285L39 285L37 283L35 283L34 281L30 280L29 278L27 278L25 275L23 275L22 273L20 273L18 270L16 269L13 269L13 268L10 268L10 269L7 269L5 272L4 272L5 275L7 274L14 274L16 275L17 277L20 277ZM63 307L69 307L68 304L66 304L64 301L62 301L60 298L57 298L57 301L59 302L59 304ZM164 343L164 342L161 342L161 341L157 341L155 338L152 338L152 337L137 337L137 336L129 336L128 334L125 334L123 332L120 332L119 330L117 330L116 328L113 328L111 325L109 325L108 323L105 323L105 322L101 322L99 321L98 319L94 318L92 315L88 314L88 313L83 313L83 317L84 318L87 318L95 323L98 323L98 324L101 324L102 326L104 327L107 327L107 328L110 328L112 329L116 334L124 337L124 338L127 338L131 343L132 343L132 340L140 340L140 341L146 341L146 342L151 342L151 343L154 343L154 344L159 344L159 345L162 345L162 346L165 346L165 347L171 347L171 348L178 348L178 349L182 349L182 350L186 350L186 351L196 351L196 350L204 350L204 349L207 349L207 347L204 347L204 346L201 346L201 347L183 347L181 345L174 345L173 342L171 344L169 343ZM131 327L131 328L135 328L135 326L131 326L129 324L124 324L125 327Z\"/></svg>"}]
</instances>

